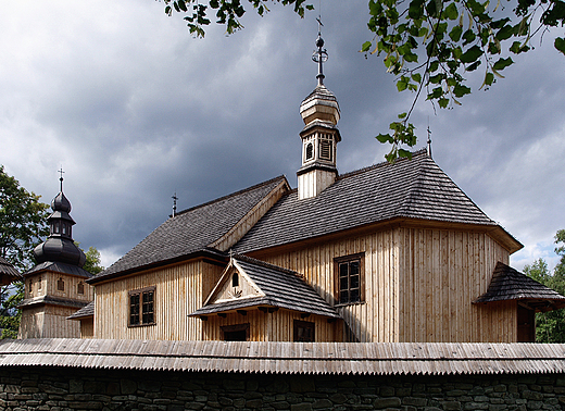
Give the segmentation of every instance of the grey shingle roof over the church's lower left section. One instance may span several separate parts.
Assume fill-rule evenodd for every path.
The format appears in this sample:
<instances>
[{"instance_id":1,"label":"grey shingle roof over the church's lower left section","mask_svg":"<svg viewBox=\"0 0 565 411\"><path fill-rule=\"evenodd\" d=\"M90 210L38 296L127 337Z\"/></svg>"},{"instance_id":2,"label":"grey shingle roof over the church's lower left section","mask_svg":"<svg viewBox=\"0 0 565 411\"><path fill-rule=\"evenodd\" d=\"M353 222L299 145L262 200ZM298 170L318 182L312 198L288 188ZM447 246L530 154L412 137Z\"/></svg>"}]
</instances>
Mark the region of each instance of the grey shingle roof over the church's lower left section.
<instances>
[{"instance_id":1,"label":"grey shingle roof over the church's lower left section","mask_svg":"<svg viewBox=\"0 0 565 411\"><path fill-rule=\"evenodd\" d=\"M279 176L179 212L161 224L133 250L98 274L91 282L206 250L210 244L226 234L284 180L286 178Z\"/></svg>"}]
</instances>

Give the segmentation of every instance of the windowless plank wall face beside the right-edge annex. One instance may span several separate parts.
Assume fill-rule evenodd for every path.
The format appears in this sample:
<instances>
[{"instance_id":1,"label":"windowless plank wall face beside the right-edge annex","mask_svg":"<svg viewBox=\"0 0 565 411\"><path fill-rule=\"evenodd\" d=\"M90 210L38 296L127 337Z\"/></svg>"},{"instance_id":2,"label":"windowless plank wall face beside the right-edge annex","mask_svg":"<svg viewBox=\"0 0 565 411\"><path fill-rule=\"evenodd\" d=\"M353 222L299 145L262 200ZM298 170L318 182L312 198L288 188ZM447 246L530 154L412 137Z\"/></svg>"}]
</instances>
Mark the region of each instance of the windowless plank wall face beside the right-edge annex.
<instances>
[{"instance_id":1,"label":"windowless plank wall face beside the right-edge annex","mask_svg":"<svg viewBox=\"0 0 565 411\"><path fill-rule=\"evenodd\" d=\"M515 303L478 307L508 252L485 233L401 228L400 341L511 342Z\"/></svg>"}]
</instances>

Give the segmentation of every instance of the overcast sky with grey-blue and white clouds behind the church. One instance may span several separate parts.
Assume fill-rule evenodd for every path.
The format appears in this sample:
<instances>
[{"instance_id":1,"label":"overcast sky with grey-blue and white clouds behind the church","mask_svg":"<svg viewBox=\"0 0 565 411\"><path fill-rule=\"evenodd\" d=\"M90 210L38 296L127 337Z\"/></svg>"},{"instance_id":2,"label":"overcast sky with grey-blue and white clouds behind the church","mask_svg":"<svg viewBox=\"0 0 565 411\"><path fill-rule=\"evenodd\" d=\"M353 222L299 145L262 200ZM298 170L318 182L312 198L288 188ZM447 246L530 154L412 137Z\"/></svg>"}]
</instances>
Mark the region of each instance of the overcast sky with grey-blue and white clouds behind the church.
<instances>
[{"instance_id":1,"label":"overcast sky with grey-blue and white clouds behind the church","mask_svg":"<svg viewBox=\"0 0 565 411\"><path fill-rule=\"evenodd\" d=\"M384 161L374 137L413 96L357 51L372 38L367 0L322 7L346 173ZM246 14L233 36L211 26L193 39L159 1L3 1L0 164L45 202L63 166L74 239L105 266L167 219L175 191L183 210L280 174L296 187L316 16L273 5L263 18ZM565 58L552 35L463 107L435 114L422 101L413 116L419 147L429 122L434 160L524 244L511 260L518 270L540 257L553 266L565 228ZM482 75L468 76L474 88Z\"/></svg>"}]
</instances>

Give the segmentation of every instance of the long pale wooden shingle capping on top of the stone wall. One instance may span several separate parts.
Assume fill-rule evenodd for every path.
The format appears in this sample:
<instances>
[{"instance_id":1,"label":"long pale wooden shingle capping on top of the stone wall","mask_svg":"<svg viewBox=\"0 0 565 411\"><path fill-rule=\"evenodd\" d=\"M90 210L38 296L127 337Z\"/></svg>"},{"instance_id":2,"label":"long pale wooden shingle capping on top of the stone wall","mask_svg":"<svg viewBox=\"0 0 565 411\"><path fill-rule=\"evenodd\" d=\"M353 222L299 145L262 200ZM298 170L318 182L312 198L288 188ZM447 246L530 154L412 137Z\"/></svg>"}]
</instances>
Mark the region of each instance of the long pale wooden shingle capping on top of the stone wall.
<instances>
[{"instance_id":1,"label":"long pale wooden shingle capping on top of the stone wall","mask_svg":"<svg viewBox=\"0 0 565 411\"><path fill-rule=\"evenodd\" d=\"M0 366L255 374L541 374L565 372L565 345L23 339L0 341Z\"/></svg>"}]
</instances>

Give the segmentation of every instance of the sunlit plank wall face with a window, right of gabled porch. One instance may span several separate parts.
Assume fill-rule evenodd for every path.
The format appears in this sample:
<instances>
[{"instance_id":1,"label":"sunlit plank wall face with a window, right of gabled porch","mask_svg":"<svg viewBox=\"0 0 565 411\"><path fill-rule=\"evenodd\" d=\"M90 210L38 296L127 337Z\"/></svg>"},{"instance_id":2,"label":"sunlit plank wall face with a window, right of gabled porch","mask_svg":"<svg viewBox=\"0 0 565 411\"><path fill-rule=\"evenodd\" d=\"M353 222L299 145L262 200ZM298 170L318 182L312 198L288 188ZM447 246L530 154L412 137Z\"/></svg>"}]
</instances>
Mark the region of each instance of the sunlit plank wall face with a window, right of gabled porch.
<instances>
[{"instance_id":1,"label":"sunlit plank wall face with a window, right of gabled porch","mask_svg":"<svg viewBox=\"0 0 565 411\"><path fill-rule=\"evenodd\" d=\"M338 311L359 341L394 342L399 334L398 244L398 231L382 231L256 257L304 274L309 284L335 306L334 258L365 252L365 302Z\"/></svg>"}]
</instances>

